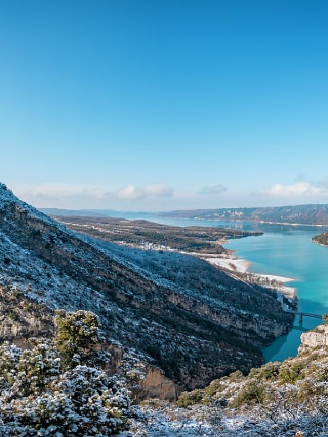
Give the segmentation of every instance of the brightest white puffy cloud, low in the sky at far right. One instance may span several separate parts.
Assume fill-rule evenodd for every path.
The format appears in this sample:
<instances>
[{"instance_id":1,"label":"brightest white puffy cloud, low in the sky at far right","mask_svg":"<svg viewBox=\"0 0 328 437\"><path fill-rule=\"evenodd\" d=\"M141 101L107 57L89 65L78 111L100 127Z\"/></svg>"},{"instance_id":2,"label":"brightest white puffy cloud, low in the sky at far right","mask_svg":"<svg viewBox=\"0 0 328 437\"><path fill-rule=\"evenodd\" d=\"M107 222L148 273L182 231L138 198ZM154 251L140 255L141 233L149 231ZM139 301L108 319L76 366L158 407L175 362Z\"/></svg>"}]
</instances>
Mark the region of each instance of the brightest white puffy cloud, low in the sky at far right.
<instances>
[{"instance_id":1,"label":"brightest white puffy cloud, low in the sky at far right","mask_svg":"<svg viewBox=\"0 0 328 437\"><path fill-rule=\"evenodd\" d=\"M296 198L301 196L327 194L327 190L323 186L299 181L292 185L274 184L269 190L262 191L261 193L272 197Z\"/></svg>"}]
</instances>

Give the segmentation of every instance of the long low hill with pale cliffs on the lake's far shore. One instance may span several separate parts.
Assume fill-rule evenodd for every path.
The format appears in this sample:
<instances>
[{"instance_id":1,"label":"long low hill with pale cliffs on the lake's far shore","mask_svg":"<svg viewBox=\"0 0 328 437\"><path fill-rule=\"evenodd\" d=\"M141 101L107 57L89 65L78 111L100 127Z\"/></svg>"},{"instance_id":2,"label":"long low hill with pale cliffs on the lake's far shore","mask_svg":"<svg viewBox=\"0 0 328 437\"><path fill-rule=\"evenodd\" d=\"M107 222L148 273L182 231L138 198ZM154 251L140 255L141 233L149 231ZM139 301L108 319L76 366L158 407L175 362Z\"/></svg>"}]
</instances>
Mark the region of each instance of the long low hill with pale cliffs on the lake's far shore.
<instances>
[{"instance_id":1,"label":"long low hill with pale cliffs on the lake's far shore","mask_svg":"<svg viewBox=\"0 0 328 437\"><path fill-rule=\"evenodd\" d=\"M161 217L194 218L198 220L328 225L328 204L260 208L191 209L162 212L158 215Z\"/></svg>"}]
</instances>

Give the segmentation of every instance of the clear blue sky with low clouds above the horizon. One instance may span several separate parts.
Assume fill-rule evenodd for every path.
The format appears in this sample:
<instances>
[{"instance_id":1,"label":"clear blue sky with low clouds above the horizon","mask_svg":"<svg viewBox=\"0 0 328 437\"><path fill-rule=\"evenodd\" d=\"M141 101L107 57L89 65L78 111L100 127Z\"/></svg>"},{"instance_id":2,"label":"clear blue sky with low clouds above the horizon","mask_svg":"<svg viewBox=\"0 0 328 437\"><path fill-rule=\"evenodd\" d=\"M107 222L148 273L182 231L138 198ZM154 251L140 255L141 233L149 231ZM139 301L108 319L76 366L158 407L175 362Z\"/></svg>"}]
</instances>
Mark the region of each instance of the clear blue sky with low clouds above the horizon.
<instances>
[{"instance_id":1,"label":"clear blue sky with low clouds above the horizon","mask_svg":"<svg viewBox=\"0 0 328 437\"><path fill-rule=\"evenodd\" d=\"M0 1L0 178L38 207L327 202L327 18L324 1Z\"/></svg>"}]
</instances>

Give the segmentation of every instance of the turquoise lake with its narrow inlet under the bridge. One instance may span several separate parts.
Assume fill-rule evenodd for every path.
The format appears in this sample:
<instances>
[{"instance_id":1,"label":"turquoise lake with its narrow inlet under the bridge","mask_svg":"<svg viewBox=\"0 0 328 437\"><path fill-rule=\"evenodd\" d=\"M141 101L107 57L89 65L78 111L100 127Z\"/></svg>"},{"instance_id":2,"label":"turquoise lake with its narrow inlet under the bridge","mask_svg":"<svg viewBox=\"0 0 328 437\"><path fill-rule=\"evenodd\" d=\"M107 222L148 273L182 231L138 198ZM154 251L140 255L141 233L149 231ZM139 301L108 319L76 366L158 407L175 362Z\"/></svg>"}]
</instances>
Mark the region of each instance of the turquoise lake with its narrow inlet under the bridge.
<instances>
[{"instance_id":1,"label":"turquoise lake with its narrow inlet under the bridge","mask_svg":"<svg viewBox=\"0 0 328 437\"><path fill-rule=\"evenodd\" d=\"M328 247L311 241L314 235L327 232L328 227L282 226L250 222L216 222L205 220L180 220L157 217L154 214L121 214L125 218L145 220L176 226L215 226L241 230L258 230L264 235L233 239L225 245L236 251L240 258L250 261L249 270L257 273L276 274L295 278L287 285L295 287L299 310L328 313ZM320 319L304 317L299 326L298 316L288 335L279 337L263 349L265 361L284 360L294 357L302 332L312 329Z\"/></svg>"}]
</instances>

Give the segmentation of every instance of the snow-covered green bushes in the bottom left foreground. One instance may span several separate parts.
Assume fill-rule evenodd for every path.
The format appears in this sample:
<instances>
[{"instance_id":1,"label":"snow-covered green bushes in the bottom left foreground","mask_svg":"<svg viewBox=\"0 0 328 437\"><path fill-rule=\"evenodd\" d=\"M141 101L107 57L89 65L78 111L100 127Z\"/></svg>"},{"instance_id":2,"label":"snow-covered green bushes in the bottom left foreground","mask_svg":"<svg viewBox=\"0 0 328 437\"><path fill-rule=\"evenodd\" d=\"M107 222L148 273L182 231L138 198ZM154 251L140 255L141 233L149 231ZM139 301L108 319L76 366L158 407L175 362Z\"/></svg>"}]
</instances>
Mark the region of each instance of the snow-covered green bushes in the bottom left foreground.
<instances>
[{"instance_id":1,"label":"snow-covered green bushes in the bottom left foreground","mask_svg":"<svg viewBox=\"0 0 328 437\"><path fill-rule=\"evenodd\" d=\"M57 323L54 341L33 338L25 351L0 346L0 435L101 437L126 429L125 381L93 366L106 357L95 349L97 317L59 311Z\"/></svg>"}]
</instances>

